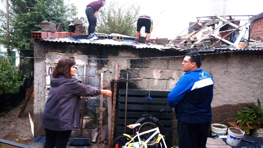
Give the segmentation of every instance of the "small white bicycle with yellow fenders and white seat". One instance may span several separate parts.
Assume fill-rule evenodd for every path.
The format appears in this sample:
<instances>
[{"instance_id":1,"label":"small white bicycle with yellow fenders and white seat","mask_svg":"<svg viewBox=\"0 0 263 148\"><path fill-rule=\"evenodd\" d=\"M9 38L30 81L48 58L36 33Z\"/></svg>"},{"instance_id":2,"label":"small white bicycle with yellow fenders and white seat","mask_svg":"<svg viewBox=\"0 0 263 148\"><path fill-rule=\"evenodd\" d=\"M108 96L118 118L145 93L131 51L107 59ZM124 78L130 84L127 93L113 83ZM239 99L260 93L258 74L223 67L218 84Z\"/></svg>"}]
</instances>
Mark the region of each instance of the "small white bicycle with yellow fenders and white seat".
<instances>
[{"instance_id":1,"label":"small white bicycle with yellow fenders and white seat","mask_svg":"<svg viewBox=\"0 0 263 148\"><path fill-rule=\"evenodd\" d=\"M131 125L127 125L127 127L134 129L137 126L140 126L141 124L131 124ZM155 131L155 132L154 132ZM144 135L144 134L148 134L150 132L154 132L152 135L150 135L150 137L146 140L146 141L141 141L140 136ZM144 131L144 132L136 132L136 135L131 137L128 134L123 134L123 136L119 136L117 137L112 144L112 148L147 148L147 143L153 139L153 137L155 137L156 135L158 135L158 138L156 139L155 143L156 143L156 148L171 148L172 145L170 143L170 141L168 139L165 138L165 136L163 136L160 133L159 127L156 127L154 129L148 130L148 131ZM139 141L135 142L134 139L138 138ZM168 145L168 146L167 146Z\"/></svg>"}]
</instances>

